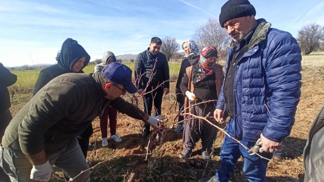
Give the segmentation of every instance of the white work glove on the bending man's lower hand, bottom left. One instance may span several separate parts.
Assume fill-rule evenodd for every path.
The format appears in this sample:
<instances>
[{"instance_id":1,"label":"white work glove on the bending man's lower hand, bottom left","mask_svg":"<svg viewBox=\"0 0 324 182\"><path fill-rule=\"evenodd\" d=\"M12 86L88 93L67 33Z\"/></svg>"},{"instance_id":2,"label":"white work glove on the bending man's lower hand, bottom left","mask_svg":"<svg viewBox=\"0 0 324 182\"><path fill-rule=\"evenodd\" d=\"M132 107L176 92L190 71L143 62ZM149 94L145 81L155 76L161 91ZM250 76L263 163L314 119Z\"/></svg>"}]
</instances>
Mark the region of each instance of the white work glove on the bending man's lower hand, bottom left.
<instances>
[{"instance_id":1,"label":"white work glove on the bending man's lower hand, bottom left","mask_svg":"<svg viewBox=\"0 0 324 182\"><path fill-rule=\"evenodd\" d=\"M30 179L49 181L53 172L52 165L49 163L49 161L42 165L33 165L30 171Z\"/></svg>"}]
</instances>

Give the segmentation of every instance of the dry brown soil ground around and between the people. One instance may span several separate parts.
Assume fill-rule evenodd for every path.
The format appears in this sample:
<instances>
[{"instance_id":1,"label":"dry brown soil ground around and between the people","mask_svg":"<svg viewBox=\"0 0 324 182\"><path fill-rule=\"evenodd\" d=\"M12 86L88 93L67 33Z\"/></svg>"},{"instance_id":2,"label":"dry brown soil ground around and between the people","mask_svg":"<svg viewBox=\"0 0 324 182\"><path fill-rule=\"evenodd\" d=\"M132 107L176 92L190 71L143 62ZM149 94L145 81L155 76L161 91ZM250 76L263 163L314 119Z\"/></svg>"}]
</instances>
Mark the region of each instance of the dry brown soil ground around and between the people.
<instances>
[{"instance_id":1,"label":"dry brown soil ground around and between the people","mask_svg":"<svg viewBox=\"0 0 324 182\"><path fill-rule=\"evenodd\" d=\"M126 64L128 65L128 63ZM133 63L129 66L134 69ZM302 153L307 140L307 134L310 124L313 122L324 101L324 54L303 56L302 60L302 95L297 107L296 122L292 128L291 135L287 138L284 151L284 160L276 163L269 162L267 169L267 181L270 182L297 182L303 181L304 169ZM175 102L175 80L180 68L179 63L170 64L171 75L175 78L171 80L170 94L164 97L162 111L166 114L168 120L167 126L170 127L177 115L178 108ZM92 72L93 66L85 68L86 72ZM16 72L14 72L16 74ZM28 72L35 74L35 72ZM22 74L19 72L19 74ZM25 73L24 73L25 74ZM30 75L25 74L23 78ZM33 77L33 76L31 76ZM171 76L173 77L173 76ZM137 95L137 94L136 94ZM138 96L138 95L137 95ZM31 93L20 93L12 98L11 112L15 115L31 98ZM130 95L124 96L124 99L130 100ZM143 108L140 97L138 105ZM141 138L143 123L132 119L126 115L118 113L117 134L123 140L121 143L112 142L109 139L107 147L101 147L101 133L99 128L99 119L93 121L94 134L91 136L91 144L88 151L88 163L94 166L99 162L111 159L116 156L123 156L130 153L146 153L148 138ZM109 129L108 129L109 131ZM217 140L214 143L212 152L212 161L208 163L201 160L201 143L198 142L193 150L193 156L188 160L178 158L182 151L182 133L175 133L174 128L169 129L160 147L156 147L154 153L146 162L147 166L143 168L136 181L197 181L201 177L211 177L220 165L220 146L224 134L218 132ZM114 158L105 164L94 168L91 173L92 181L127 181L131 172L143 164L145 157L121 157ZM241 175L242 160L238 161L231 181L244 181ZM62 172L55 168L55 172L62 180L52 179L51 181L63 181Z\"/></svg>"}]
</instances>

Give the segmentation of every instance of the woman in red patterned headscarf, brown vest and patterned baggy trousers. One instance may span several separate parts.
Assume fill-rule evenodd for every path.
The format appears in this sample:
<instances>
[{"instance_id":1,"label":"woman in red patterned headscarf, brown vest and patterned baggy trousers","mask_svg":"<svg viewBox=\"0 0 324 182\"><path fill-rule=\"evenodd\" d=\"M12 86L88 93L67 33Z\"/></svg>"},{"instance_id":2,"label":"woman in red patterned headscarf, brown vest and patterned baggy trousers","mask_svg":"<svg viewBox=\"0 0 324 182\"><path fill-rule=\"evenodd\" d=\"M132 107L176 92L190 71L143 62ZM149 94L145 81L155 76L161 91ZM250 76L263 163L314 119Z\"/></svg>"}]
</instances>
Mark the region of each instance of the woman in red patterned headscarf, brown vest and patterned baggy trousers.
<instances>
[{"instance_id":1,"label":"woman in red patterned headscarf, brown vest and patterned baggy trousers","mask_svg":"<svg viewBox=\"0 0 324 182\"><path fill-rule=\"evenodd\" d=\"M217 50L215 47L206 47L200 54L198 64L186 69L180 89L185 98L184 113L206 117L216 123L213 113L216 101L224 80L223 67L216 63ZM201 104L199 104L201 103ZM191 106L191 104L194 104ZM189 118L188 118L189 119ZM203 119L192 117L184 124L183 149L179 157L185 159L192 154L195 144L201 139L203 159L210 160L210 154L217 136L217 128Z\"/></svg>"}]
</instances>

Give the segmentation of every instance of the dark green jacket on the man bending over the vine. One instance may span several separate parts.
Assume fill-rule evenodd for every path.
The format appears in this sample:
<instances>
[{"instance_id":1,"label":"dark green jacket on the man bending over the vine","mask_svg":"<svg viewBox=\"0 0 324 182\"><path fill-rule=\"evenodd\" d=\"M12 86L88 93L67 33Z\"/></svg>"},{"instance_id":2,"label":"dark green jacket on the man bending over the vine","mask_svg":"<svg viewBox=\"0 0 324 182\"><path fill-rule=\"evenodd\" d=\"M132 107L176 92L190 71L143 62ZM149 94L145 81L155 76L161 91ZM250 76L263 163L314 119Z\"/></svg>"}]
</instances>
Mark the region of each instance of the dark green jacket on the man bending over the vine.
<instances>
[{"instance_id":1,"label":"dark green jacket on the man bending over the vine","mask_svg":"<svg viewBox=\"0 0 324 182\"><path fill-rule=\"evenodd\" d=\"M104 98L98 74L67 73L51 80L12 119L3 146L29 155L52 153L82 134L107 104L142 119L144 112L122 98Z\"/></svg>"}]
</instances>

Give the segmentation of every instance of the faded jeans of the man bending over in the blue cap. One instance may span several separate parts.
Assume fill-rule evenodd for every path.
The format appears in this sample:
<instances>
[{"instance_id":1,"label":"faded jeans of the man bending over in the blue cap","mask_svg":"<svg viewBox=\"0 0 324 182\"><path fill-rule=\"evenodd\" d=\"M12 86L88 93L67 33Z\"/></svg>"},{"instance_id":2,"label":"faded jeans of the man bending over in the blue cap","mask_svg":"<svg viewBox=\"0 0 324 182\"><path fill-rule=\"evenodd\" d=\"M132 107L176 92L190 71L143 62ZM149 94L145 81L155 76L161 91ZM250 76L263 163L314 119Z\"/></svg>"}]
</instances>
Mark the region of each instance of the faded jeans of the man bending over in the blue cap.
<instances>
[{"instance_id":1,"label":"faded jeans of the man bending over in the blue cap","mask_svg":"<svg viewBox=\"0 0 324 182\"><path fill-rule=\"evenodd\" d=\"M30 171L32 164L21 152L13 152L11 150L1 147L1 166L5 172L10 176L12 182L31 182ZM78 145L76 139L73 139L67 146L47 154L50 164L55 164L57 167L63 169L64 172L73 178L81 171L89 168L89 165ZM74 180L73 180L74 181ZM78 182L89 182L90 171L83 172L80 176L75 178Z\"/></svg>"}]
</instances>

